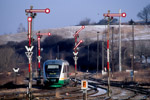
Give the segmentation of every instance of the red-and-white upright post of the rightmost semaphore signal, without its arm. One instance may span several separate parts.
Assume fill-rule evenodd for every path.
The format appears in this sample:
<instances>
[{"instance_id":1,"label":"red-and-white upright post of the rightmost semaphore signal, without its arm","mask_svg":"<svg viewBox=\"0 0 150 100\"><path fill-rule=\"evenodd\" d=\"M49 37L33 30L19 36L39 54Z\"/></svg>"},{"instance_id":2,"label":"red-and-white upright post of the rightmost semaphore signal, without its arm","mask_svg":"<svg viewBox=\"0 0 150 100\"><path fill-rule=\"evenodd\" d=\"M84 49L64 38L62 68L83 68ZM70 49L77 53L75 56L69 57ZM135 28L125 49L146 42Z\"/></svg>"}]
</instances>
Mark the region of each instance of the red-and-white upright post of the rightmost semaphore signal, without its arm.
<instances>
[{"instance_id":1,"label":"red-and-white upright post of the rightmost semaphore signal, without its arm","mask_svg":"<svg viewBox=\"0 0 150 100\"><path fill-rule=\"evenodd\" d=\"M108 14L110 10L108 10ZM108 33L107 33L107 69L108 69L108 96L110 96L110 68L109 68L109 24L110 17L108 17Z\"/></svg>"}]
</instances>

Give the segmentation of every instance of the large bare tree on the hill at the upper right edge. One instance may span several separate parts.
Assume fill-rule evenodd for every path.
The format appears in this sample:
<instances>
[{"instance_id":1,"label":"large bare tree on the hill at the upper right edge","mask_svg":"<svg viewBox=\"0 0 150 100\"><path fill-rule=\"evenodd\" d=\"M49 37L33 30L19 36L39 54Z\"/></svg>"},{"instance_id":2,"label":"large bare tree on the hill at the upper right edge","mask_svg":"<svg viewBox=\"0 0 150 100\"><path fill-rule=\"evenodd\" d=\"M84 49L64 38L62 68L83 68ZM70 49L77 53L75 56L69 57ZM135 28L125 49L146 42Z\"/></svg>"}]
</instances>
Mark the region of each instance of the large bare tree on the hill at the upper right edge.
<instances>
[{"instance_id":1,"label":"large bare tree on the hill at the upper right edge","mask_svg":"<svg viewBox=\"0 0 150 100\"><path fill-rule=\"evenodd\" d=\"M140 11L137 16L145 21L145 23L148 23L148 20L150 19L150 4L143 8L142 11Z\"/></svg>"}]
</instances>

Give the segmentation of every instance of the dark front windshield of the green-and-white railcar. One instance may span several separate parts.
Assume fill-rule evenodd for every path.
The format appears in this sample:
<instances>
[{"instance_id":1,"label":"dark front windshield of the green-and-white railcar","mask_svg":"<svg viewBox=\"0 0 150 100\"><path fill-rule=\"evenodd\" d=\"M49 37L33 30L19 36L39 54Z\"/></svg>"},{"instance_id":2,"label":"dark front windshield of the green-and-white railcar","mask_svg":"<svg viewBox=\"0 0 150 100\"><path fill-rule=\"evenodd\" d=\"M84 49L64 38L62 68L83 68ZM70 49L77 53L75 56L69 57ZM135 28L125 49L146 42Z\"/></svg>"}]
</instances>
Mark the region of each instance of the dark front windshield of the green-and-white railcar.
<instances>
[{"instance_id":1,"label":"dark front windshield of the green-and-white railcar","mask_svg":"<svg viewBox=\"0 0 150 100\"><path fill-rule=\"evenodd\" d=\"M60 65L47 65L45 71L48 77L59 77L61 66Z\"/></svg>"}]
</instances>

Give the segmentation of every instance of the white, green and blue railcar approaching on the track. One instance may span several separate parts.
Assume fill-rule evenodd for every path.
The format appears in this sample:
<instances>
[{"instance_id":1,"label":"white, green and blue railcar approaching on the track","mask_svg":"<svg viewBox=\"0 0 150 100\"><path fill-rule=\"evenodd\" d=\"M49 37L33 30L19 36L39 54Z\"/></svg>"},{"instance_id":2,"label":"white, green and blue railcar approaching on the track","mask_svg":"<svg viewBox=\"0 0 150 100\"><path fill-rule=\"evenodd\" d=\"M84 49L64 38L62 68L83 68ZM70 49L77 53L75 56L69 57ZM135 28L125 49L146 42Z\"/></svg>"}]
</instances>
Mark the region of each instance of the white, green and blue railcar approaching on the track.
<instances>
[{"instance_id":1,"label":"white, green and blue railcar approaching on the track","mask_svg":"<svg viewBox=\"0 0 150 100\"><path fill-rule=\"evenodd\" d=\"M69 84L69 63L65 60L47 60L43 63L44 85L62 87Z\"/></svg>"}]
</instances>

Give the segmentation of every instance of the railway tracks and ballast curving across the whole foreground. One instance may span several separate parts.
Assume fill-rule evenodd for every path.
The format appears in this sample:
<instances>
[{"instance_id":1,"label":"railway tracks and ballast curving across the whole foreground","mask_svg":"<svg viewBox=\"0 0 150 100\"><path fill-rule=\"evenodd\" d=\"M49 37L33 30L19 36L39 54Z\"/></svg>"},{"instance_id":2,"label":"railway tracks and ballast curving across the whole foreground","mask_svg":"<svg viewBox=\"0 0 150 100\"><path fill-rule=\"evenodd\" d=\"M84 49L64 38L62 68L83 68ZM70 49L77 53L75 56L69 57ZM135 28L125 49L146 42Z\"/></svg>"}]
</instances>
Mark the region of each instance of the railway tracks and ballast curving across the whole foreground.
<instances>
[{"instance_id":1,"label":"railway tracks and ballast curving across the whole foreground","mask_svg":"<svg viewBox=\"0 0 150 100\"><path fill-rule=\"evenodd\" d=\"M85 77L86 76L86 77ZM92 74L85 74L77 77L78 84L73 87L66 86L57 89L46 89L37 87L32 91L33 100L82 100L81 80L88 80L89 89L87 91L88 100L149 100L150 88L148 84L137 84L134 82L111 81L111 97L107 96L107 80L95 79ZM103 93L100 93L104 91ZM0 93L0 100L27 100L26 91L16 91L10 93Z\"/></svg>"}]
</instances>

